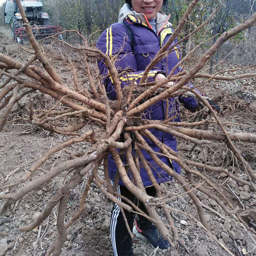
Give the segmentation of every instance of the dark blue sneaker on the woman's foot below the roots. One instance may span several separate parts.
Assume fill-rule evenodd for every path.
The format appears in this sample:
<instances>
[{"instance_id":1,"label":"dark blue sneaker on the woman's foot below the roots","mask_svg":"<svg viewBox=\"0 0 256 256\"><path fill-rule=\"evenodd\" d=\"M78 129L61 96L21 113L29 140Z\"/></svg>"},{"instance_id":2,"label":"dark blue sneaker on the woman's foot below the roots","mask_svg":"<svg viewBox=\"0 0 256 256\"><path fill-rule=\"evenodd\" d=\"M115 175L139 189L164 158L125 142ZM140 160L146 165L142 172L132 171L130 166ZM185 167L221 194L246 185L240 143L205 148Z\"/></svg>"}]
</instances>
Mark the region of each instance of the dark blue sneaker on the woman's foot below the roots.
<instances>
[{"instance_id":1,"label":"dark blue sneaker on the woman's foot below the roots","mask_svg":"<svg viewBox=\"0 0 256 256\"><path fill-rule=\"evenodd\" d=\"M137 225L137 220L135 219L135 226L133 227L132 232L135 236L140 237L144 240L148 240L155 248L158 246L160 249L167 249L170 244L167 240L159 234L156 226L153 223L148 225L148 228L145 230L139 229Z\"/></svg>"}]
</instances>

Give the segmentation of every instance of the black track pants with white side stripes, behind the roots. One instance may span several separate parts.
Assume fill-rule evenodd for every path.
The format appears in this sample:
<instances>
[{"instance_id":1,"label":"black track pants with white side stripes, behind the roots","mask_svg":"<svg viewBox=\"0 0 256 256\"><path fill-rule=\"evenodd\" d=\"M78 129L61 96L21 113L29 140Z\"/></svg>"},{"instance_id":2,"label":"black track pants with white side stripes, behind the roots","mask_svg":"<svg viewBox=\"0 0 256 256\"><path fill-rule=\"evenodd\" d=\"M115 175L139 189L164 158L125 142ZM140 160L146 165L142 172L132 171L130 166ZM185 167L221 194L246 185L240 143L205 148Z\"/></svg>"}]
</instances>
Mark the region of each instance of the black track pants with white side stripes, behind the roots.
<instances>
[{"instance_id":1,"label":"black track pants with white side stripes, behind the roots","mask_svg":"<svg viewBox=\"0 0 256 256\"><path fill-rule=\"evenodd\" d=\"M118 185L117 191L118 194L127 197L135 205L137 205L143 212L147 213L147 210L143 203L141 203L132 193L124 186ZM146 192L149 196L156 196L156 189L154 187L146 188ZM124 200L118 199L124 203ZM127 204L127 203L126 203ZM133 220L135 215L132 212L127 212L124 210L128 225L132 230ZM137 223L140 228L143 226L148 226L150 223L146 218L142 216L137 217ZM124 217L118 204L115 204L111 214L110 222L110 234L111 234L111 243L113 247L114 256L132 256L132 238L125 226Z\"/></svg>"}]
</instances>

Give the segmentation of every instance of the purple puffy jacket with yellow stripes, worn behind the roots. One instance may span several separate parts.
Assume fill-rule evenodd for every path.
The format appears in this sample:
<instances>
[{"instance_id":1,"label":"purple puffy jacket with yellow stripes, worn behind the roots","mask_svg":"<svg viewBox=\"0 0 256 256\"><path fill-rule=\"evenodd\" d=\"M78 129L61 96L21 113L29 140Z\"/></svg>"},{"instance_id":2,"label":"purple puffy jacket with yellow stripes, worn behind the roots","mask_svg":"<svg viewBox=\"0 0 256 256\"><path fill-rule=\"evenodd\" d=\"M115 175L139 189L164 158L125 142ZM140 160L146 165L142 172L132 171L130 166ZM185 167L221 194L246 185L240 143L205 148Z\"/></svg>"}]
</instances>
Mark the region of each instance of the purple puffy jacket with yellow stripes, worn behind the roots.
<instances>
[{"instance_id":1,"label":"purple puffy jacket with yellow stripes, worn behind the roots","mask_svg":"<svg viewBox=\"0 0 256 256\"><path fill-rule=\"evenodd\" d=\"M163 18L163 13L161 12L160 14L160 18ZM156 20L158 19L158 17L159 16L156 16ZM164 45L164 43L172 34L172 24L167 22L167 19L168 18L166 16L166 22L164 22L162 26L160 26L161 24L156 25L156 28L160 27L158 33L156 34L150 28L151 26L149 23L147 23L147 20L143 21L143 19L141 19L141 14L131 14L125 16L124 22L128 26L130 26L134 37L133 52L127 29L124 27L123 23L114 23L101 34L96 47L99 48L102 52L107 53L108 56L114 56L123 47L122 51L119 53L117 60L115 61L116 68L120 73L124 69L130 70L130 72L127 74L128 77L124 74L119 78L122 87L126 86L127 84L130 84L133 78L135 78L136 82L139 83L140 77L142 76L150 60L152 60L155 57L161 45ZM177 39L173 42L173 44L176 42ZM178 50L169 53L165 58L158 62L156 66L148 73L147 81L154 81L156 73L166 74L170 72L172 68L178 63L179 60L180 54ZM103 83L105 84L108 98L110 100L116 100L116 91L114 89L111 77L108 76L108 68L101 60L98 61L98 66L101 75L105 77L103 79ZM180 70L180 67L177 68L174 74L178 73ZM168 118L171 116L175 116L173 122L180 122L180 103L182 103L186 108L192 111L197 107L196 100L190 97L179 97L179 99L175 99L174 97L172 97L169 98L168 101ZM166 100L160 100L156 102L155 104L151 105L143 111L144 118L151 120L164 120L166 111L165 106ZM162 141L165 145L171 147L173 150L177 152L177 141L171 134L161 132L155 129L149 130L156 136L158 140ZM144 139L147 141L148 145L154 151L160 152L159 148L153 142L148 140L146 137L144 137ZM146 160L148 161L149 165L151 166L152 172L158 183L172 180L172 177L169 176L169 174L167 174L164 170L162 170L157 164L155 164L155 162L151 159L151 157L145 150L141 149L141 151L145 156ZM177 164L174 161L170 161L167 157L158 157L165 164L173 168L175 172L180 173L179 164ZM108 160L108 171L110 179L114 180L116 173L116 164L111 155L109 156ZM128 176L130 175L131 174L128 173ZM145 187L152 185L151 181L148 178L147 172L142 165L140 166L140 176ZM119 180L119 185L124 185L122 180Z\"/></svg>"}]
</instances>

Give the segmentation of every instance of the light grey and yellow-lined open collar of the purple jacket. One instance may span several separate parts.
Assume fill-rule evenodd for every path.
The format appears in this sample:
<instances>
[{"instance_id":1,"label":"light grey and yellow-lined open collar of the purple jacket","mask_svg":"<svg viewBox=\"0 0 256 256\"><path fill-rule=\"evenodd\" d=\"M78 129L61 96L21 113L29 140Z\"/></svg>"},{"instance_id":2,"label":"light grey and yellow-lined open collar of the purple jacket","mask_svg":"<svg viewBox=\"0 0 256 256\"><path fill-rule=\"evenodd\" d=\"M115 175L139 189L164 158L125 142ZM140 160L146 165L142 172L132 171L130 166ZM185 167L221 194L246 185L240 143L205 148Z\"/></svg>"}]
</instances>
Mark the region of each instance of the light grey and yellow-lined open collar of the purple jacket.
<instances>
[{"instance_id":1,"label":"light grey and yellow-lined open collar of the purple jacket","mask_svg":"<svg viewBox=\"0 0 256 256\"><path fill-rule=\"evenodd\" d=\"M162 28L172 27L172 24L168 22L169 18L170 14L167 16L160 10L156 14L156 31L159 32L159 30ZM138 13L134 10L131 10L128 4L124 4L118 15L118 22L122 22L125 19L128 19L134 23L140 23L146 27L150 27L146 16L143 13Z\"/></svg>"}]
</instances>

